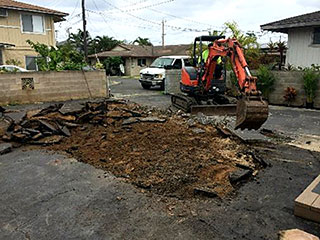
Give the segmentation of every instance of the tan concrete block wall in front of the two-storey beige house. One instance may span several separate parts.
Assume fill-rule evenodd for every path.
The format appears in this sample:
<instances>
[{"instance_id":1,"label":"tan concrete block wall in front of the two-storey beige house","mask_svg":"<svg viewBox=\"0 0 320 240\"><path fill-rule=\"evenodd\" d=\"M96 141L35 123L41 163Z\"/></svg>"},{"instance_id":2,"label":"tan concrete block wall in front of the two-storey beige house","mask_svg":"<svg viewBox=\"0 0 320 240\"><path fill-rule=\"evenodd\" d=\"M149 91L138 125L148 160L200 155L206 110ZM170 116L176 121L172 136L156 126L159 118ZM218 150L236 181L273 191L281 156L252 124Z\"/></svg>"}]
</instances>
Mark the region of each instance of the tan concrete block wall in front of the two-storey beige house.
<instances>
[{"instance_id":1,"label":"tan concrete block wall in front of the two-storey beige house","mask_svg":"<svg viewBox=\"0 0 320 240\"><path fill-rule=\"evenodd\" d=\"M34 89L23 90L24 79L33 79ZM108 97L108 90L104 70L0 74L1 105Z\"/></svg>"}]
</instances>

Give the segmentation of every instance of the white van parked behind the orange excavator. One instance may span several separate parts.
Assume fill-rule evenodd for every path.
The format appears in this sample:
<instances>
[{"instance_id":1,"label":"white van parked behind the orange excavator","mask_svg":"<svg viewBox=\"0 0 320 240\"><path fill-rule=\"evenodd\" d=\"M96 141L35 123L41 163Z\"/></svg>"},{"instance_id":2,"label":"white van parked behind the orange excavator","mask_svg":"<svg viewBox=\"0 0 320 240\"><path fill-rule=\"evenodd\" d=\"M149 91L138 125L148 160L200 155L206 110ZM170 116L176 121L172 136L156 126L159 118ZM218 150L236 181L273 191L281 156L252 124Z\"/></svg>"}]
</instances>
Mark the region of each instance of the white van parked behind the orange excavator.
<instances>
[{"instance_id":1,"label":"white van parked behind the orange excavator","mask_svg":"<svg viewBox=\"0 0 320 240\"><path fill-rule=\"evenodd\" d=\"M191 66L189 56L164 56L159 57L145 69L140 71L140 83L144 89L160 86L164 89L165 69L182 69Z\"/></svg>"}]
</instances>

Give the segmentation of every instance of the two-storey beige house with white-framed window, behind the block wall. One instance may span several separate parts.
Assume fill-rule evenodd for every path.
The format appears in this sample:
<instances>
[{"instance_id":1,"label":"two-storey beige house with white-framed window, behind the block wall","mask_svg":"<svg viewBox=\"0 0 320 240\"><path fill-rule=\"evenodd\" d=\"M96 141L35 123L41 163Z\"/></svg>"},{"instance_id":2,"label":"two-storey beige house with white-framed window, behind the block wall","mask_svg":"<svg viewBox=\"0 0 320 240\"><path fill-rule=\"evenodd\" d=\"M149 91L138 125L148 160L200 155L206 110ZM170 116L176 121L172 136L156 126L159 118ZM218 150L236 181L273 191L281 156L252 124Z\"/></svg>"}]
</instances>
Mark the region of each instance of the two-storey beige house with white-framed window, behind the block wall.
<instances>
[{"instance_id":1,"label":"two-storey beige house with white-framed window, behind the block wall","mask_svg":"<svg viewBox=\"0 0 320 240\"><path fill-rule=\"evenodd\" d=\"M8 60L21 62L28 70L37 70L37 54L27 40L55 46L54 23L68 14L12 1L0 0L0 65Z\"/></svg>"}]
</instances>

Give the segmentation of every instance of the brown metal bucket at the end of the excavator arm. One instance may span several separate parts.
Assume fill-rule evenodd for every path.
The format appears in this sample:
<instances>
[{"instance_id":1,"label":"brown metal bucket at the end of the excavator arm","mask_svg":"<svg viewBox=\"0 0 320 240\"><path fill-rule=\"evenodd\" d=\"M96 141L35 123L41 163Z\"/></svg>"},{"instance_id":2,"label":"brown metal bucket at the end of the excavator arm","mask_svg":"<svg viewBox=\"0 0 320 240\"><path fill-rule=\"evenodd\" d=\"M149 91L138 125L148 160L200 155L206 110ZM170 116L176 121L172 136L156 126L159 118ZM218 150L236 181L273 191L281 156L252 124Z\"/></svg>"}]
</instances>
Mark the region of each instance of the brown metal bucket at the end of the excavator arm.
<instances>
[{"instance_id":1,"label":"brown metal bucket at the end of the excavator arm","mask_svg":"<svg viewBox=\"0 0 320 240\"><path fill-rule=\"evenodd\" d=\"M236 129L258 130L269 115L268 103L260 97L243 97L237 103Z\"/></svg>"}]
</instances>

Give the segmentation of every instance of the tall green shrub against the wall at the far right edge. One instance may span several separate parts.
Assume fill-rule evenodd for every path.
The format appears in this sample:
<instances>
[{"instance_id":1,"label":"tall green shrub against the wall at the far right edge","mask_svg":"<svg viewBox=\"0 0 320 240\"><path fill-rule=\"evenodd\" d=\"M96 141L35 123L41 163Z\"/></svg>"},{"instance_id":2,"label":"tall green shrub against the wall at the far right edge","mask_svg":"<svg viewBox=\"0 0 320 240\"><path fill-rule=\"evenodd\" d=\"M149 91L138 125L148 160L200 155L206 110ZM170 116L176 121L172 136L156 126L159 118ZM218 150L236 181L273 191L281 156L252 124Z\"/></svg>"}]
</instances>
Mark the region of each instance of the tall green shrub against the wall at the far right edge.
<instances>
[{"instance_id":1,"label":"tall green shrub against the wall at the far right edge","mask_svg":"<svg viewBox=\"0 0 320 240\"><path fill-rule=\"evenodd\" d=\"M318 82L320 75L313 69L307 68L303 74L303 87L307 96L307 103L312 103L316 97L316 91L318 88Z\"/></svg>"}]
</instances>

